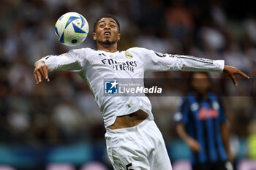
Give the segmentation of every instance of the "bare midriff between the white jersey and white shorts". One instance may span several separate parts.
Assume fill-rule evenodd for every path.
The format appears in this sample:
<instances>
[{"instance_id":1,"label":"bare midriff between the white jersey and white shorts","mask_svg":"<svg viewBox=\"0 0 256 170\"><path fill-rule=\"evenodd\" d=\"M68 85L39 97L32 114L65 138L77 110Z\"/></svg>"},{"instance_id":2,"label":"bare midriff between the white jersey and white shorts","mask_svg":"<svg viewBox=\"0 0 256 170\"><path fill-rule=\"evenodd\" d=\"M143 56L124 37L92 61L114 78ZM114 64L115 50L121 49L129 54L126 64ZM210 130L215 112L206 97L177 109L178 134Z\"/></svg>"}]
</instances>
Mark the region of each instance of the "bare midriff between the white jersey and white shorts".
<instances>
[{"instance_id":1,"label":"bare midriff between the white jersey and white shorts","mask_svg":"<svg viewBox=\"0 0 256 170\"><path fill-rule=\"evenodd\" d=\"M108 128L130 128L140 124L143 120L146 120L147 117L148 114L139 109L138 111L133 112L132 114L116 117L115 123L113 125L108 126Z\"/></svg>"}]
</instances>

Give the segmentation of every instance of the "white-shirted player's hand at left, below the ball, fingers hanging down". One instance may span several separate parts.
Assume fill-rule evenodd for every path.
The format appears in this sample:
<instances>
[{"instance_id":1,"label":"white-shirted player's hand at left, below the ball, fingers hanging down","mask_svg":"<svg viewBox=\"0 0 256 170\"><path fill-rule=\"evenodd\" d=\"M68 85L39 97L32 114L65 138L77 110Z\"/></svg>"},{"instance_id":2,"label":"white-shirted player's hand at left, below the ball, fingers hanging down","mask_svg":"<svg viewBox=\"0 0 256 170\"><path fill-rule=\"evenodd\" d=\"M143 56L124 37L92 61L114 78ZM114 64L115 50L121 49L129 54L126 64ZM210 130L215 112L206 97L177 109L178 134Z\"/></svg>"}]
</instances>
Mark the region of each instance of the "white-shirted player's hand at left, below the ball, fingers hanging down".
<instances>
[{"instance_id":1,"label":"white-shirted player's hand at left, below the ball, fingers hanging down","mask_svg":"<svg viewBox=\"0 0 256 170\"><path fill-rule=\"evenodd\" d=\"M46 81L50 82L48 77L49 72L48 66L46 66L45 61L37 62L34 68L34 80L36 81L37 85L42 82L42 78L44 77Z\"/></svg>"}]
</instances>

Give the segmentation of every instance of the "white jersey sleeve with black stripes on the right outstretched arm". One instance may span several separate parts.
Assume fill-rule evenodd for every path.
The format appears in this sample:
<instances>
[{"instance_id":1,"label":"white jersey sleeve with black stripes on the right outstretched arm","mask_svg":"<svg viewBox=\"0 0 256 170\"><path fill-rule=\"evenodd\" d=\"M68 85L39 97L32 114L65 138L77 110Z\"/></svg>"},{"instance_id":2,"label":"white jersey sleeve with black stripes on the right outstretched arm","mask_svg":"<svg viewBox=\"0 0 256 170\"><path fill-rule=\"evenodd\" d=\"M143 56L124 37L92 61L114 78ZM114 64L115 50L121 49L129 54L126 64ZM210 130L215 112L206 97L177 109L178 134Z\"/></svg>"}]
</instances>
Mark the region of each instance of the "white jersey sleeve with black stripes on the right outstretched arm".
<instances>
[{"instance_id":1,"label":"white jersey sleeve with black stripes on the right outstretched arm","mask_svg":"<svg viewBox=\"0 0 256 170\"><path fill-rule=\"evenodd\" d=\"M190 55L157 53L140 48L145 72L187 71L187 72L223 72L224 60L197 58Z\"/></svg>"}]
</instances>

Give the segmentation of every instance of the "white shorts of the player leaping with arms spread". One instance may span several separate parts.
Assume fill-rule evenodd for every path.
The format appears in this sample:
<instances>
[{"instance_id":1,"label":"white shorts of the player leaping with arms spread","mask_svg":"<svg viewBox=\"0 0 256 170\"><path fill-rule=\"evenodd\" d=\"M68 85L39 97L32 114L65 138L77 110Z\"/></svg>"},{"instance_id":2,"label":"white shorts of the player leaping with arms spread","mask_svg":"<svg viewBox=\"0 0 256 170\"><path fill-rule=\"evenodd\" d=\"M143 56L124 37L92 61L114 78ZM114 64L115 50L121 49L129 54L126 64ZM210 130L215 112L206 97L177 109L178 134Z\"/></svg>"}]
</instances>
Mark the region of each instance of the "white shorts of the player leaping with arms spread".
<instances>
[{"instance_id":1,"label":"white shorts of the player leaping with arms spread","mask_svg":"<svg viewBox=\"0 0 256 170\"><path fill-rule=\"evenodd\" d=\"M154 120L143 120L131 128L106 130L108 157L115 170L172 170Z\"/></svg>"}]
</instances>

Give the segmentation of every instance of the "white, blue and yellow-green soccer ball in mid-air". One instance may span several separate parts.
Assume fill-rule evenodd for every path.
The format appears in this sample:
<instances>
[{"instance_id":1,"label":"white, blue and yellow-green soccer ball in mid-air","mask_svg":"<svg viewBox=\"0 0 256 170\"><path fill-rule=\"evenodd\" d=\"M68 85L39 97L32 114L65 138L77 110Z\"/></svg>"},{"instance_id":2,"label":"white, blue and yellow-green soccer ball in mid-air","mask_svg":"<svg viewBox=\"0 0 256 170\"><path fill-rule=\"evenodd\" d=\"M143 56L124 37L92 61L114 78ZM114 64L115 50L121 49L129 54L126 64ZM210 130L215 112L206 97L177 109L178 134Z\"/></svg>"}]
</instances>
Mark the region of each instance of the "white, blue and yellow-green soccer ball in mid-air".
<instances>
[{"instance_id":1,"label":"white, blue and yellow-green soccer ball in mid-air","mask_svg":"<svg viewBox=\"0 0 256 170\"><path fill-rule=\"evenodd\" d=\"M80 45L89 33L89 24L78 12L67 12L55 24L55 34L63 45Z\"/></svg>"}]
</instances>

